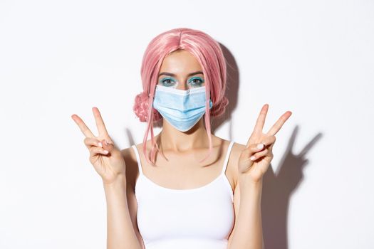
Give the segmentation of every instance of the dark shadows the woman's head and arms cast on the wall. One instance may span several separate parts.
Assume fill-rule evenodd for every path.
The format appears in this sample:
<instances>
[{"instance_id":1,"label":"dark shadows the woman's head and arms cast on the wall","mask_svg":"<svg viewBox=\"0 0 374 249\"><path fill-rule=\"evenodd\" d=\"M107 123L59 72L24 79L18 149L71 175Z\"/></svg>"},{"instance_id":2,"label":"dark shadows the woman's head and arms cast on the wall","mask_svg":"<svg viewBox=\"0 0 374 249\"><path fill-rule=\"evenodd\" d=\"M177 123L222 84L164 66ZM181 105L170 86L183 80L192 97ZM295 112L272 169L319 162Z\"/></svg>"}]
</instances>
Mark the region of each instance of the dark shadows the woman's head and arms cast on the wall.
<instances>
[{"instance_id":1,"label":"dark shadows the woman's head and arms cast on the wall","mask_svg":"<svg viewBox=\"0 0 374 249\"><path fill-rule=\"evenodd\" d=\"M224 122L229 122L229 140L232 140L232 113L237 108L239 92L239 69L232 53L223 46L219 45L224 52L227 60L227 91L226 96L229 99L226 112L221 117L212 119L212 133ZM157 122L155 127L162 127L162 121ZM303 179L303 166L308 164L306 159L307 152L321 138L318 133L311 142L306 144L299 154L293 154L292 148L295 143L298 126L295 127L289 145L286 148L279 171L274 173L273 168L269 166L264 175L264 185L261 197L261 213L264 233L264 245L266 249L288 249L288 216L289 200L291 194L296 191ZM133 134L130 129L125 128L128 137L128 144L135 144Z\"/></svg>"}]
</instances>

